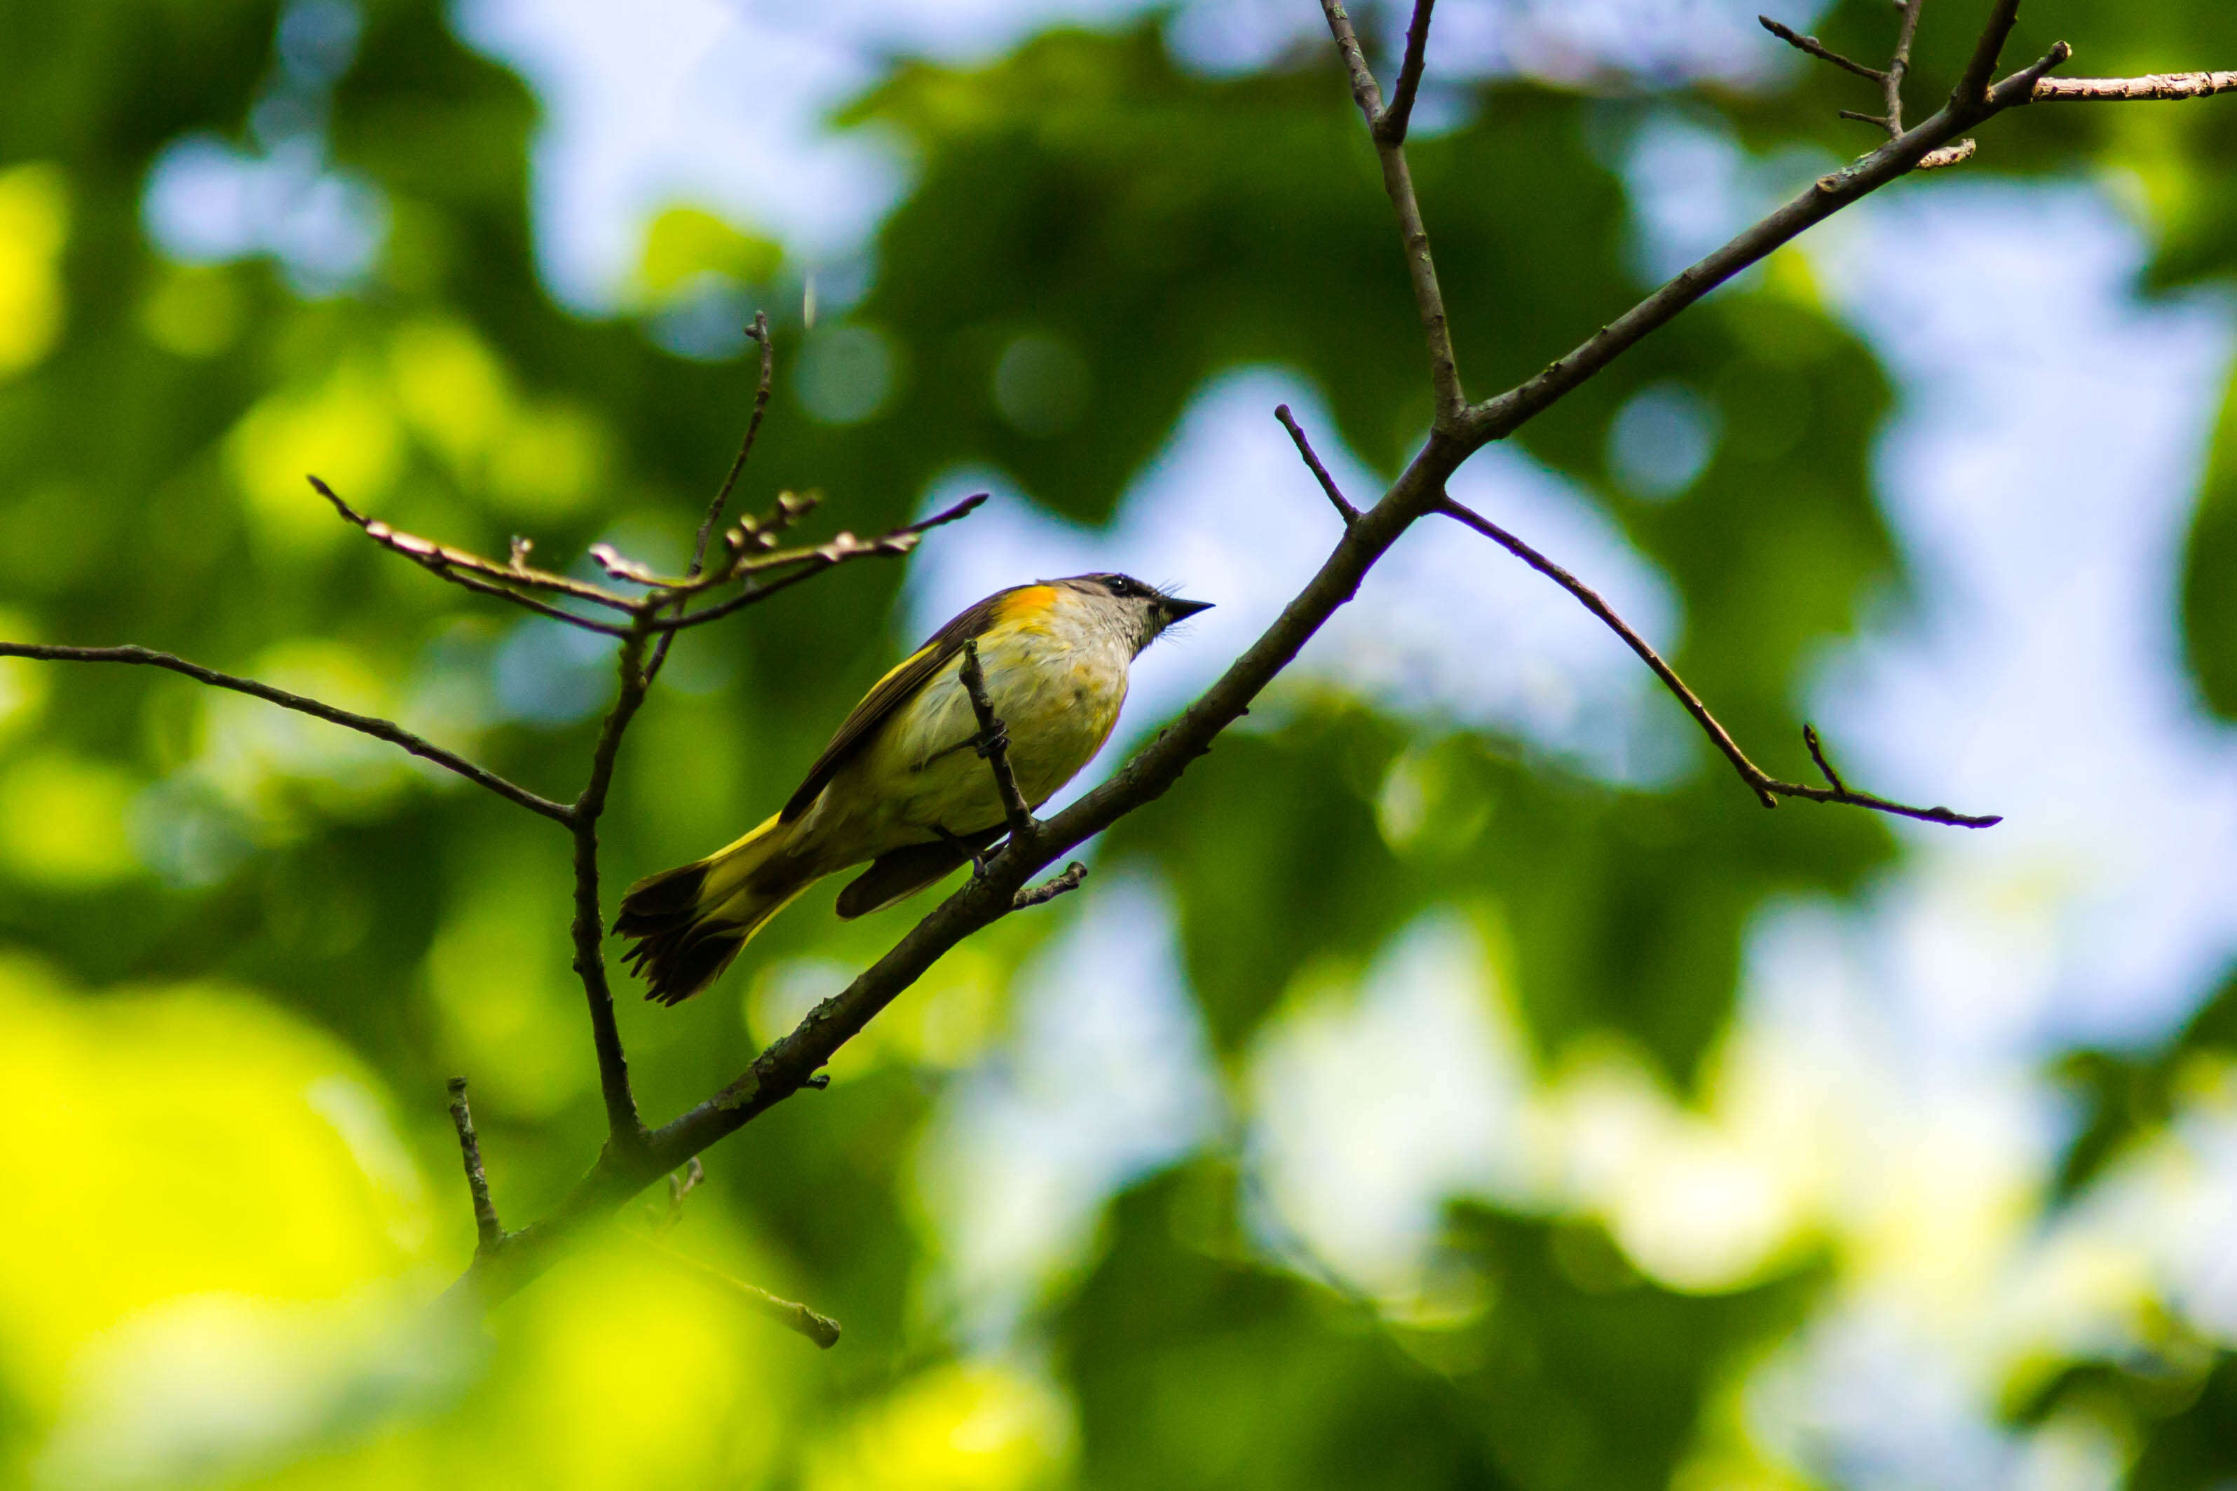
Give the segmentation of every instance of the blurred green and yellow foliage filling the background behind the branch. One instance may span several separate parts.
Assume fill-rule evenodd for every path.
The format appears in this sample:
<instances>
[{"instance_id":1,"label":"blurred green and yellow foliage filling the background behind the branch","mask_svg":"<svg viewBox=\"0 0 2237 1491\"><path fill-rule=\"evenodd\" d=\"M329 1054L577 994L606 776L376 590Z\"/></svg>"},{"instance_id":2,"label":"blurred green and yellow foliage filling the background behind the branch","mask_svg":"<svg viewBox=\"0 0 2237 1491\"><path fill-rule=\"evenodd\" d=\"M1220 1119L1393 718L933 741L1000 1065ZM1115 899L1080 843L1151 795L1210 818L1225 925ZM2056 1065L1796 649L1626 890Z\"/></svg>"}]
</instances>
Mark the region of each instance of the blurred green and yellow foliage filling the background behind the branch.
<instances>
[{"instance_id":1,"label":"blurred green and yellow foliage filling the background behind the branch","mask_svg":"<svg viewBox=\"0 0 2237 1491\"><path fill-rule=\"evenodd\" d=\"M1884 9L1841 4L1819 29L1872 54ZM1915 98L1953 74L1971 9L1928 7ZM566 796L591 726L494 709L492 659L566 686L604 675L351 543L300 474L483 552L532 532L548 557L620 539L673 559L736 440L747 367L660 351L646 322L664 284L711 270L778 313L790 353L799 266L676 217L642 315L555 306L528 221L537 105L425 0L369 0L331 92L333 161L389 212L362 291L302 297L268 259L170 264L141 230L150 161L192 132L244 139L275 20L246 0L0 0L0 633L143 642L400 713ZM2212 0L2029 4L2013 54L2054 36L2094 72L2237 58L2237 13ZM1810 72L1700 107L1752 148L1852 152L1832 121L1852 103ZM1624 107L1497 85L1416 145L1479 393L1635 300L1622 183L1588 145ZM747 501L821 487L830 523L870 532L969 463L1101 523L1192 393L1246 364L1313 380L1382 469L1418 438L1396 235L1327 58L1206 78L1154 25L1060 31L984 69L904 63L843 123L915 159L846 311L897 349L897 391L846 427L781 393ZM2159 286L2237 268L2237 107L2036 110L1993 127L1991 156L2118 161L2143 186ZM1069 349L1094 391L1060 434L995 409L1022 333ZM1606 429L1671 378L1714 389L1729 434L1682 505L1649 505L1604 469ZM1774 262L1521 443L1669 577L1676 662L1727 724L1781 742L1812 657L1904 586L1868 487L1886 411L1870 351L1805 266ZM2237 718L2237 396L2221 425L2183 624L2203 697ZM971 543L969 525L935 543ZM613 881L767 809L890 659L899 581L857 566L680 644L678 688L622 771ZM910 1156L1069 903L982 937L843 1057L830 1093L709 1153L664 1234L839 1317L832 1355L629 1238L506 1305L485 1339L421 1335L414 1301L472 1243L441 1080L474 1077L508 1221L550 1205L600 1142L559 832L177 677L11 664L0 731L0 1480L1613 1491L1830 1473L1767 1455L1734 1384L1839 1285L1854 1252L1839 1236L1678 1288L1642 1276L1602 1218L1467 1205L1443 1256L1476 1305L1423 1314L1268 1256L1237 1156L1204 1153L1114 1203L1085 1274L1033 1301L1025 1348L966 1350L924 1305L940 1256ZM1803 771L1799 747L1765 756ZM1400 762L1479 827L1391 843L1376 800ZM1123 823L1098 876L1134 865L1170 885L1228 1077L1300 986L1358 977L1425 910L1461 908L1544 1071L1615 1046L1705 1100L1749 921L1776 896L1850 896L1895 854L1866 816L1754 809L1707 758L1626 791L1512 740L1295 693L1280 726L1224 742ZM810 896L749 966L857 966L922 908L855 925L825 910ZM2165 1053L2074 1057L2089 1122L2058 1187L2168 1120L2197 1060L2233 1046L2230 999ZM752 968L673 1013L629 1004L646 1111L736 1075L778 1006ZM2230 1368L2210 1346L2177 1357L2031 1364L2013 1424L2080 1404L2136 1455L2134 1484L2237 1473L2237 1440L2212 1433Z\"/></svg>"}]
</instances>

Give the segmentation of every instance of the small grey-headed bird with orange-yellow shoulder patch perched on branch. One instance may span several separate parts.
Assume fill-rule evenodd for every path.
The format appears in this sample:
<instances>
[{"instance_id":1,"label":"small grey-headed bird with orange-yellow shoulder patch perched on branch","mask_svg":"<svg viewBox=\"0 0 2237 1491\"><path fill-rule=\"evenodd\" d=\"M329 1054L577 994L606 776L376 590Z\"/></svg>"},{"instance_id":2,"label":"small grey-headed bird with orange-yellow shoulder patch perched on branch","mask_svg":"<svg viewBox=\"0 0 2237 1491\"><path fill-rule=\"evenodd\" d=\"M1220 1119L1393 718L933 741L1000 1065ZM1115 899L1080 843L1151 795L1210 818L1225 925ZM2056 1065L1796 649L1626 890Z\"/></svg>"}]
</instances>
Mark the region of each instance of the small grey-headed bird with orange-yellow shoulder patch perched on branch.
<instances>
[{"instance_id":1,"label":"small grey-headed bird with orange-yellow shoulder patch perched on branch","mask_svg":"<svg viewBox=\"0 0 2237 1491\"><path fill-rule=\"evenodd\" d=\"M1134 657L1208 606L1130 574L1072 574L998 590L957 615L877 680L774 818L629 887L613 932L635 939L626 959L649 984L644 997L678 1004L714 984L770 917L828 874L870 865L839 892L839 914L863 917L1002 836L989 742L960 677L966 639L978 642L1018 791L1040 807L1103 749Z\"/></svg>"}]
</instances>

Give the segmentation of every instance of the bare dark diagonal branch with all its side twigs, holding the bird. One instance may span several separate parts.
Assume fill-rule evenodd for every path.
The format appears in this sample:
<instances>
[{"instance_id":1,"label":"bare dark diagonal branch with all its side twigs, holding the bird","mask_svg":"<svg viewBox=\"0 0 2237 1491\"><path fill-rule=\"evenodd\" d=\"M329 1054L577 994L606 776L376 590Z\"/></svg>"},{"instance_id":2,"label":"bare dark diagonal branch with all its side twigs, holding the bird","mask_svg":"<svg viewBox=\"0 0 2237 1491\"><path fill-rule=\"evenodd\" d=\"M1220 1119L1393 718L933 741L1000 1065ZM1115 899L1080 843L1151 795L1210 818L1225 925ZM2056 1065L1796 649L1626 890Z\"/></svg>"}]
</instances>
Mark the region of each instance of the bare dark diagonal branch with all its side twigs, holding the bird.
<instances>
[{"instance_id":1,"label":"bare dark diagonal branch with all its side twigs, holding the bird","mask_svg":"<svg viewBox=\"0 0 2237 1491\"><path fill-rule=\"evenodd\" d=\"M915 984L948 948L993 921L1031 905L1040 905L1080 883L1085 870L1067 865L1054 879L1033 883L1060 856L1101 834L1105 827L1154 803L1170 789L1197 756L1210 749L1212 740L1295 659L1297 650L1313 633L1358 590L1360 581L1389 552L1414 523L1427 516L1443 516L1476 534L1492 539L1523 563L1546 574L1595 617L1599 617L1658 680L1671 691L1702 733L1716 744L1745 787L1763 805L1781 798L1807 798L1814 803L1861 807L1881 814L1897 814L1924 823L1955 827L1989 827L1993 816L1960 814L1944 807L1908 807L1863 791L1850 789L1828 760L1816 733L1803 729L1805 749L1823 776L1823 787L1781 780L1758 769L1709 713L1707 704L1678 677L1678 673L1640 635L1617 617L1606 601L1566 568L1514 536L1490 516L1459 505L1445 492L1447 478L1483 445L1501 440L1528 420L1537 418L1577 387L1595 378L1631 346L1669 324L1702 295L1725 284L1740 270L1758 264L1778 246L1792 241L1819 221L1863 199L1870 192L1915 172L1955 168L1973 159L1980 143L1973 132L1995 116L2033 103L2125 103L2125 101L2179 101L2203 98L2221 92L2237 92L2237 74L2161 74L2148 78L2085 78L2063 80L2051 74L2071 56L2065 42L2054 45L2045 56L2018 72L1998 78L2000 58L2018 18L2018 0L1991 0L1986 20L1960 72L1948 98L1919 123L1906 123L1904 87L1910 78L1910 42L1919 25L1924 0L1904 0L1897 7L1895 42L1886 65L1866 65L1837 56L1814 38L1765 20L1765 25L1790 45L1810 56L1854 74L1879 89L1879 112L1852 112L1886 136L1870 154L1850 165L1816 179L1799 197L1783 203L1761 221L1738 232L1729 244L1689 266L1671 282L1640 300L1635 306L1588 335L1575 349L1557 355L1537 376L1483 400L1470 400L1461 367L1454 358L1452 333L1445 315L1443 293L1436 279L1432 237L1414 192L1407 163L1407 125L1420 89L1429 54L1429 20L1434 0L1416 0L1403 47L1398 47L1396 80L1385 103L1382 85L1376 78L1367 47L1362 45L1351 16L1340 0L1322 0L1324 20L1335 42L1335 56L1349 80L1351 96L1365 116L1367 134L1380 168L1382 190L1396 215L1398 241L1394 250L1407 268L1416 313L1420 320L1427 353L1427 409L1429 434L1412 463L1398 478L1367 507L1356 507L1329 476L1329 469L1313 454L1304 429L1280 409L1280 418L1297 445L1320 490L1333 505L1342 532L1331 545L1318 572L1289 599L1266 630L1228 666L1228 671L1206 688L1174 722L1170 722L1148 747L1118 767L1096 789L1049 818L1036 818L1027 805L1027 765L1020 765L1025 731L1011 706L1000 706L1013 718L1002 720L987 668L982 668L982 644L991 646L987 628L966 628L957 646L940 659L946 668L942 680L969 700L978 735L964 744L960 765L971 771L971 789L984 791L984 800L998 805L984 823L969 823L984 832L984 845L1007 834L998 852L980 856L980 874L966 879L937 908L919 919L884 957L870 963L843 990L810 1010L796 1028L770 1044L752 1066L723 1091L709 1095L687 1113L646 1127L638 1115L638 1104L629 1084L629 1064L613 1019L613 995L606 981L602 892L600 892L600 843L597 823L606 809L615 760L626 731L646 691L660 675L676 635L696 626L731 617L778 590L803 583L817 574L834 570L855 559L897 557L915 548L926 530L964 516L980 498L957 503L924 523L897 528L875 539L837 534L823 543L787 545L785 536L812 510L812 498L778 496L774 507L761 516L743 519L727 530L723 516L731 492L752 456L763 414L770 402L774 360L767 324L756 317L752 335L761 344L761 376L754 391L752 416L740 440L738 456L709 503L696 534L691 566L685 574L660 574L613 550L593 552L595 563L608 581L626 583L617 590L541 570L530 563L532 545L517 541L506 559L485 559L430 539L398 532L358 510L340 494L313 478L318 492L333 503L336 512L360 528L367 539L385 550L409 559L438 579L463 586L476 595L526 608L566 626L584 628L615 639L617 684L615 697L597 731L591 751L588 773L582 791L573 800L557 800L515 785L463 756L447 751L421 735L400 729L389 720L358 715L320 700L295 695L268 684L235 677L201 664L157 653L143 646L40 646L0 644L0 655L36 657L51 662L119 662L168 668L215 688L230 688L259 697L282 709L327 720L376 740L385 740L409 751L463 780L492 791L494 796L561 825L573 845L573 946L575 972L582 979L591 1037L597 1055L602 1095L608 1120L608 1138L588 1174L548 1216L528 1223L517 1232L506 1232L497 1221L497 1205L490 1196L488 1178L481 1169L479 1140L465 1107L463 1082L452 1089L452 1115L459 1129L461 1156L468 1174L468 1189L476 1218L476 1250L472 1265L459 1290L479 1303L497 1301L521 1288L550 1267L584 1227L611 1221L642 1189L662 1176L687 1171L700 1151L745 1127L774 1104L825 1082L823 1066L852 1039L879 1010ZM1333 165L1333 163L1331 163ZM716 534L720 532L720 548ZM1098 581L1123 581L1125 577L1076 577ZM1130 581L1139 583L1139 581ZM1031 588L1022 588L1031 590ZM1009 595L1009 592L1004 592ZM1000 599L1000 597L995 597ZM1172 601L1172 597L1163 597ZM1177 606L1188 606L1179 604ZM1186 615L1186 612L1183 612ZM962 621L962 619L960 619ZM899 673L899 671L897 671ZM866 700L868 704L868 700ZM957 778L962 780L962 778ZM821 787L819 787L821 791ZM1036 782L1031 791L1047 796ZM787 809L790 811L790 809ZM805 811L805 809L803 809ZM778 816L778 820L783 814ZM776 823L776 820L772 820ZM928 838L935 838L926 834ZM931 845L948 852L948 845ZM962 858L946 861L953 870ZM926 870L928 865L913 865ZM875 872L875 867L872 867ZM895 872L899 874L899 870ZM937 876L933 876L937 879ZM931 883L931 881L924 881ZM922 885L919 885L922 887ZM852 890L852 887L850 887ZM868 892L866 892L868 894ZM906 894L906 892L904 892ZM846 896L841 896L841 903ZM624 905L626 919L626 905ZM743 939L740 939L743 941ZM687 1171L689 1174L689 1171ZM687 1189L687 1187L685 1187ZM682 1189L676 1191L680 1200ZM738 1285L747 1288L747 1285ZM754 1292L758 1294L758 1292ZM783 1319L803 1335L830 1343L837 1328L805 1305L790 1301L765 1301L765 1312Z\"/></svg>"}]
</instances>

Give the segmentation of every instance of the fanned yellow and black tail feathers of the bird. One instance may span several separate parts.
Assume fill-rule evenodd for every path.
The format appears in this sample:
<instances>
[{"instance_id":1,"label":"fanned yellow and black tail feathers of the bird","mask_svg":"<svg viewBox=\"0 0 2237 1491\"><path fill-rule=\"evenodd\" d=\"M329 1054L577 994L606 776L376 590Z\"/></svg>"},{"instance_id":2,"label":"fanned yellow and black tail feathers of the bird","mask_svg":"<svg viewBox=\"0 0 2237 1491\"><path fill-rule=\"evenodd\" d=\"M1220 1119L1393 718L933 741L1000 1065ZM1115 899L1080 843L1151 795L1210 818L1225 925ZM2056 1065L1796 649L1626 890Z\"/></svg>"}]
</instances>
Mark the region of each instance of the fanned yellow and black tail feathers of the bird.
<instances>
[{"instance_id":1,"label":"fanned yellow and black tail feathers of the bird","mask_svg":"<svg viewBox=\"0 0 2237 1491\"><path fill-rule=\"evenodd\" d=\"M720 977L761 925L808 890L787 863L792 825L770 818L707 858L662 870L622 894L615 937L638 946L622 957L644 977L646 999L680 1004Z\"/></svg>"}]
</instances>

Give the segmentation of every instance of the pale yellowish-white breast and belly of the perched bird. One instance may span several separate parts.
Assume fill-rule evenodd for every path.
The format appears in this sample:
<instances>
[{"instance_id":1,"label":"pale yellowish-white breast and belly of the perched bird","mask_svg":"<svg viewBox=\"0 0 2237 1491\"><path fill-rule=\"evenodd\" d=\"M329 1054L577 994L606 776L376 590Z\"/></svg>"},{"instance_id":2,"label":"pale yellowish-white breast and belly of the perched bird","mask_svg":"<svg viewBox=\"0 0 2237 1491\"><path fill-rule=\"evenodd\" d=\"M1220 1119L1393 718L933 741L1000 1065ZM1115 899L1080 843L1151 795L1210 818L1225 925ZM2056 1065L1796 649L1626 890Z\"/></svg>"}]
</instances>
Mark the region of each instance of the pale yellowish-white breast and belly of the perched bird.
<instances>
[{"instance_id":1,"label":"pale yellowish-white breast and belly of the perched bird","mask_svg":"<svg viewBox=\"0 0 2237 1491\"><path fill-rule=\"evenodd\" d=\"M1031 626L980 639L987 700L1009 731L1009 767L1027 803L1045 803L1103 749L1130 662L1130 648L1101 633ZM1002 823L993 771L971 747L978 720L957 668L948 664L897 709L810 809L803 847L812 845L821 865L837 870L942 832Z\"/></svg>"}]
</instances>

